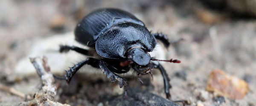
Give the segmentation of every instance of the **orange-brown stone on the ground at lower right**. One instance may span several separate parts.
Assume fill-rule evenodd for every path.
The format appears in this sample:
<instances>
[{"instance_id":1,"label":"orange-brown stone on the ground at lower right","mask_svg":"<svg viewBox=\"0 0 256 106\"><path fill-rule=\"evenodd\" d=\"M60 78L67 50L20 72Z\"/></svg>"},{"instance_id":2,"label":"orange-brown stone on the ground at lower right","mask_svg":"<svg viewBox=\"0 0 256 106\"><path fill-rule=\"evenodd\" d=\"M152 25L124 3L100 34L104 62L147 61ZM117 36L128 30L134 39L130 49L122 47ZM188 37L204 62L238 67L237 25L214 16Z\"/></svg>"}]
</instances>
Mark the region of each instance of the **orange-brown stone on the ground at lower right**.
<instances>
[{"instance_id":1,"label":"orange-brown stone on the ground at lower right","mask_svg":"<svg viewBox=\"0 0 256 106\"><path fill-rule=\"evenodd\" d=\"M221 70L213 70L209 76L206 90L228 98L242 99L248 91L248 84Z\"/></svg>"}]
</instances>

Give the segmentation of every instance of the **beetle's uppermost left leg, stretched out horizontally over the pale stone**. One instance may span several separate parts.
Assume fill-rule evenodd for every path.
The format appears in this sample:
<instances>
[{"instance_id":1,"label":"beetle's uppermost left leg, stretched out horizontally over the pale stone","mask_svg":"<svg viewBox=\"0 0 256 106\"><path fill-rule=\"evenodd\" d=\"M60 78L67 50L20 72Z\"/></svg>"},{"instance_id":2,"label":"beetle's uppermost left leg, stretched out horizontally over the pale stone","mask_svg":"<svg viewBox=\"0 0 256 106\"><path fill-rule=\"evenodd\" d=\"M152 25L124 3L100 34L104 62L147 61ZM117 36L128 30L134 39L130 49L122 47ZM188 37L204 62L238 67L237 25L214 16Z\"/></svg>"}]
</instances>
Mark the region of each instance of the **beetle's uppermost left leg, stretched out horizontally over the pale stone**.
<instances>
[{"instance_id":1,"label":"beetle's uppermost left leg, stretched out horizontally over the pale stone","mask_svg":"<svg viewBox=\"0 0 256 106\"><path fill-rule=\"evenodd\" d=\"M89 50L86 50L86 49L83 49L80 47L76 47L76 46L60 45L60 49L59 49L60 53L68 52L69 50L74 50L77 53L81 53L83 55L90 56Z\"/></svg>"}]
</instances>

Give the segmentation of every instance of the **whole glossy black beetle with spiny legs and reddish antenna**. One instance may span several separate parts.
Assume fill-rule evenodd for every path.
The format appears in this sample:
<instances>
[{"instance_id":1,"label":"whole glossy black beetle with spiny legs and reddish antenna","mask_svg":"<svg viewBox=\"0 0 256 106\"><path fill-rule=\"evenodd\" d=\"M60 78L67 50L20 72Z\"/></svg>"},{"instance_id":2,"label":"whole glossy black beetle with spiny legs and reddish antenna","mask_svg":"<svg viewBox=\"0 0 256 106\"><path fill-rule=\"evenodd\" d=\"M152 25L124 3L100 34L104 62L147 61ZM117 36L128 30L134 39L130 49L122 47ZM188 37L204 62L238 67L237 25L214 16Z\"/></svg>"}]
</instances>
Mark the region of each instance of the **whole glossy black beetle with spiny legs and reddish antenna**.
<instances>
[{"instance_id":1,"label":"whole glossy black beetle with spiny legs and reddish antenna","mask_svg":"<svg viewBox=\"0 0 256 106\"><path fill-rule=\"evenodd\" d=\"M91 49L85 50L76 46L61 45L60 52L74 50L87 56L97 53L97 58L87 58L70 67L70 70L66 70L67 83L85 64L100 68L107 78L111 79L111 82L117 81L120 87L127 87L127 82L116 73L127 73L133 69L138 73L139 78L140 74L151 74L153 68L158 68L163 75L166 98L170 98L170 79L166 70L157 61L173 63L180 63L180 61L152 58L148 52L153 51L157 44L156 39L168 47L170 45L168 38L162 33L148 31L145 24L134 15L113 8L94 11L77 24L75 39L79 43L91 47Z\"/></svg>"}]
</instances>

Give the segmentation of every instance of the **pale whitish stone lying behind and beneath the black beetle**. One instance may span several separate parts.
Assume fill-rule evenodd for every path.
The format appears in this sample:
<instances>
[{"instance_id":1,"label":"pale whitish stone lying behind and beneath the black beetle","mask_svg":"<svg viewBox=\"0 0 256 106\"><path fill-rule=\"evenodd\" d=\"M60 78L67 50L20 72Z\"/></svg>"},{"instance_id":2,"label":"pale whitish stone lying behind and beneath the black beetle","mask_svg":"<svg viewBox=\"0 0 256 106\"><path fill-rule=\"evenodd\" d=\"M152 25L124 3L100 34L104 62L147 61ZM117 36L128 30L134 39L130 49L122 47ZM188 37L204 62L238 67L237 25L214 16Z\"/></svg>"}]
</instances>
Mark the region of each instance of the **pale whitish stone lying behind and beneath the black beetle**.
<instances>
[{"instance_id":1,"label":"pale whitish stone lying behind and beneath the black beetle","mask_svg":"<svg viewBox=\"0 0 256 106\"><path fill-rule=\"evenodd\" d=\"M51 35L44 39L37 39L31 42L32 45L30 45L31 47L29 47L27 50L27 55L21 57L21 59L17 61L14 70L15 76L12 78L13 80L15 78L17 79L37 75L35 68L29 61L30 57L46 56L48 59L48 64L51 67L51 72L57 75L63 75L65 73L64 70L69 69L68 67L72 67L74 64L87 58L87 56L81 55L74 51L70 51L68 53L59 53L59 45L76 45L84 49L89 49L88 47L75 41L73 32ZM165 48L161 45L157 45L156 50L150 52L150 56L162 60L166 59ZM160 63L165 62L160 61ZM106 77L101 75L100 70L97 70L90 65L85 65L82 67L81 71L79 70L79 74L83 74L84 78L89 78L93 81L97 81L98 79L102 79L104 81L106 80ZM132 73L126 75L132 75Z\"/></svg>"}]
</instances>

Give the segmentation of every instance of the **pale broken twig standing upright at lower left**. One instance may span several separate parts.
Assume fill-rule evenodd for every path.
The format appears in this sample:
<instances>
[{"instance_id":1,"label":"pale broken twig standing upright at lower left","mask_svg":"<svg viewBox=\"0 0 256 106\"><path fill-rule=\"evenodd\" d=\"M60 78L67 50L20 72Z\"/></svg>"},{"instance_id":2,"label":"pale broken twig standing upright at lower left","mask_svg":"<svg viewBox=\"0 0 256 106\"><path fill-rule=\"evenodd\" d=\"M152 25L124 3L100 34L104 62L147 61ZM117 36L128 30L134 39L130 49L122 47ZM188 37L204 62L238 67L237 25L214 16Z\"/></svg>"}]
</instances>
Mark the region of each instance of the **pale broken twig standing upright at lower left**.
<instances>
[{"instance_id":1,"label":"pale broken twig standing upright at lower left","mask_svg":"<svg viewBox=\"0 0 256 106\"><path fill-rule=\"evenodd\" d=\"M69 106L68 104L61 104L54 102L53 99L56 95L56 86L53 84L54 78L50 73L50 67L47 64L47 59L30 58L31 63L34 65L36 72L41 77L43 87L42 91L36 92L35 98L28 102L22 102L20 106Z\"/></svg>"}]
</instances>

